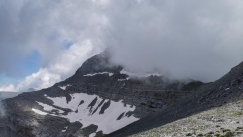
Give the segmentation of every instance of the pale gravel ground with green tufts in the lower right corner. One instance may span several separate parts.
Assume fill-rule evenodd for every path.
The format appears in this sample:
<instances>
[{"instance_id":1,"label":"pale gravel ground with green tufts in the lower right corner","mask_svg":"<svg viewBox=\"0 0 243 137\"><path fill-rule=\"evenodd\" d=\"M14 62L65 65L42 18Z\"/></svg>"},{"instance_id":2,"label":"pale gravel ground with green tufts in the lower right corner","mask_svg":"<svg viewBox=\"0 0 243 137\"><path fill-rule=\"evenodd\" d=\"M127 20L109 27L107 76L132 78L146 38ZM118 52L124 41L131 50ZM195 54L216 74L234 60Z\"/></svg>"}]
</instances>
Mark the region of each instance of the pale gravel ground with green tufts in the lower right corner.
<instances>
[{"instance_id":1,"label":"pale gravel ground with green tufts in the lower right corner","mask_svg":"<svg viewBox=\"0 0 243 137\"><path fill-rule=\"evenodd\" d=\"M243 97L130 137L243 137Z\"/></svg>"}]
</instances>

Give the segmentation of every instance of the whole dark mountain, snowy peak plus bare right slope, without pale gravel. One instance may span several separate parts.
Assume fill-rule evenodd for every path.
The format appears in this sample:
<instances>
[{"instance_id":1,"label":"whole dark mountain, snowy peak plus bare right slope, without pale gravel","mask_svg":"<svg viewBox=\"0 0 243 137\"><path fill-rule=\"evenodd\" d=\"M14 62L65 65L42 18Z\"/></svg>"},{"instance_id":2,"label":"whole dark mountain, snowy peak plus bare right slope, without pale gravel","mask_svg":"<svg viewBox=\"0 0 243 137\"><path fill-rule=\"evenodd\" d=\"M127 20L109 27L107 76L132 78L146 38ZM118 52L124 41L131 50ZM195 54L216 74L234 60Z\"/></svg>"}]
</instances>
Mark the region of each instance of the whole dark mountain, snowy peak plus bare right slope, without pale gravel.
<instances>
[{"instance_id":1,"label":"whole dark mountain, snowy peak plus bare right slope, without pale gravel","mask_svg":"<svg viewBox=\"0 0 243 137\"><path fill-rule=\"evenodd\" d=\"M4 137L130 136L221 106L243 92L243 63L213 83L134 77L107 52L67 80L2 101ZM163 136L163 135L162 135Z\"/></svg>"}]
</instances>

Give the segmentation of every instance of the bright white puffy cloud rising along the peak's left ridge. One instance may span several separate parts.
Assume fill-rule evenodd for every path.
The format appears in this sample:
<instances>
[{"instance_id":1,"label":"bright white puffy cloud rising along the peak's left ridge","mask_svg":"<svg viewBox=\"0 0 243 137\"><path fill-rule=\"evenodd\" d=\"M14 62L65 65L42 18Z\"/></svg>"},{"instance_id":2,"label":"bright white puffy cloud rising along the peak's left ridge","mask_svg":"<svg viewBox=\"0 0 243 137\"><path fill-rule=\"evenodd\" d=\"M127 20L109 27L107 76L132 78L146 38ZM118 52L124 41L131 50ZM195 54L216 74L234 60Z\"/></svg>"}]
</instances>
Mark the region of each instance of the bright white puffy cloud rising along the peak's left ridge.
<instances>
[{"instance_id":1,"label":"bright white puffy cloud rising along the peak's left ridge","mask_svg":"<svg viewBox=\"0 0 243 137\"><path fill-rule=\"evenodd\" d=\"M89 40L72 45L68 50L52 60L46 67L41 68L20 82L15 91L27 91L28 88L43 89L70 77L78 67L90 56L93 45Z\"/></svg>"}]
</instances>

